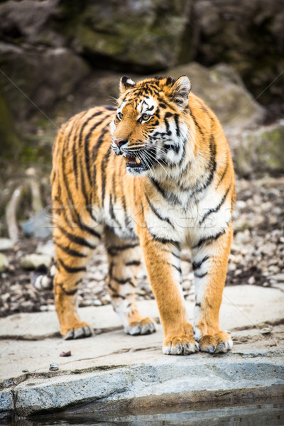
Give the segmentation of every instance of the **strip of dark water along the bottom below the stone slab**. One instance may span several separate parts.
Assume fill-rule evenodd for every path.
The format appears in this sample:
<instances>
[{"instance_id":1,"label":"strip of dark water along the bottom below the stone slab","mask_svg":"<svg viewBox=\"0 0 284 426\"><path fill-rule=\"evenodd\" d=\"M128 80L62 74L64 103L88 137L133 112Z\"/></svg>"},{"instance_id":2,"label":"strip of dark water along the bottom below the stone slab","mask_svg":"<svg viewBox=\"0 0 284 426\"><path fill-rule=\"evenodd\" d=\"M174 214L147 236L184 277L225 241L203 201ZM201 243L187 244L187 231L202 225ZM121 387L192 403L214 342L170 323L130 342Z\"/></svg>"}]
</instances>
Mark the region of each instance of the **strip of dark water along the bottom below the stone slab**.
<instances>
[{"instance_id":1,"label":"strip of dark water along the bottom below the stone slab","mask_svg":"<svg viewBox=\"0 0 284 426\"><path fill-rule=\"evenodd\" d=\"M82 413L84 411L84 413ZM2 423L3 424L3 423ZM70 409L65 413L45 414L28 420L13 420L6 425L25 426L283 426L284 400L253 400L253 403L238 405L195 404L179 405L129 412L99 412L94 405Z\"/></svg>"}]
</instances>

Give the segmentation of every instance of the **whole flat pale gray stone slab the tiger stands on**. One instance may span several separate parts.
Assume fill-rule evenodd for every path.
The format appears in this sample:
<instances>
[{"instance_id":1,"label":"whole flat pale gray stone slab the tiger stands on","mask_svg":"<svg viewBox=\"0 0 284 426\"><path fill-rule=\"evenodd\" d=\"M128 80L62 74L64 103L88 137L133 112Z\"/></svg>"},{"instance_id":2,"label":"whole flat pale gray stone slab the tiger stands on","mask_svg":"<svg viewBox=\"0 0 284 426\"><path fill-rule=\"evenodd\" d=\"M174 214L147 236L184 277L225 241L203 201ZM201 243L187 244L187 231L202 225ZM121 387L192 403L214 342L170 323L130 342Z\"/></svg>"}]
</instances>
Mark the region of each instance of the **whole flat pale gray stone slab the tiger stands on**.
<instances>
[{"instance_id":1,"label":"whole flat pale gray stone slab the tiger stands on","mask_svg":"<svg viewBox=\"0 0 284 426\"><path fill-rule=\"evenodd\" d=\"M143 315L158 316L155 301L138 305ZM27 415L77 403L97 410L283 395L283 306L280 289L226 288L221 326L231 330L234 348L215 356L165 356L160 324L155 334L126 335L111 306L82 308L81 317L104 333L75 341L58 337L55 312L7 317L0 320L0 410ZM192 301L187 308L192 320ZM265 324L272 324L268 334ZM59 356L69 350L72 356ZM49 371L51 363L58 371Z\"/></svg>"}]
</instances>

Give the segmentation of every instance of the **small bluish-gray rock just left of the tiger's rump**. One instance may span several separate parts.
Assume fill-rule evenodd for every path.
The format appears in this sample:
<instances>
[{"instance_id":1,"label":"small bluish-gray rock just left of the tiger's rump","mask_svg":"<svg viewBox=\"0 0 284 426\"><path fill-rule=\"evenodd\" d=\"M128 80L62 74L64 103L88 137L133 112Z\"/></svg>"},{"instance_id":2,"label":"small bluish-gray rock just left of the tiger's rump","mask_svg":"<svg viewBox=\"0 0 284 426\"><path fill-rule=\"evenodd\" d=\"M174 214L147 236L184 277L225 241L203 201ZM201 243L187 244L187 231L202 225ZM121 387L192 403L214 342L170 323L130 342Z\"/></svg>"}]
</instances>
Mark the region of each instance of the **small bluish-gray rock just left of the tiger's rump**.
<instances>
[{"instance_id":1,"label":"small bluish-gray rock just left of the tiger's rump","mask_svg":"<svg viewBox=\"0 0 284 426\"><path fill-rule=\"evenodd\" d=\"M22 229L27 236L45 239L50 236L52 232L50 217L50 212L45 212L45 209L43 209L40 213L35 214L31 219L23 222Z\"/></svg>"}]
</instances>

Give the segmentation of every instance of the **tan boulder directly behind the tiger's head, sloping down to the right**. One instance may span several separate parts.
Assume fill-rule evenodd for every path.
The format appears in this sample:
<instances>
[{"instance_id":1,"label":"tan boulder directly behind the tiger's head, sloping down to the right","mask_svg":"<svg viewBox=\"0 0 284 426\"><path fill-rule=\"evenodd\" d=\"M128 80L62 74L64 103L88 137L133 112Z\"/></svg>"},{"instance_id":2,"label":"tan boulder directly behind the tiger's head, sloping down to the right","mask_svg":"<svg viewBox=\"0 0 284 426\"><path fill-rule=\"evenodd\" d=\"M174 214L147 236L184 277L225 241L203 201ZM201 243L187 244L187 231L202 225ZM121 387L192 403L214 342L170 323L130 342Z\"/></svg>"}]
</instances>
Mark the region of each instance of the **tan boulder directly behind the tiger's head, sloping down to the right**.
<instances>
[{"instance_id":1,"label":"tan boulder directly behind the tiger's head, sloping down to the right","mask_svg":"<svg viewBox=\"0 0 284 426\"><path fill-rule=\"evenodd\" d=\"M225 77L224 69L227 70ZM225 133L231 133L232 128L245 129L263 122L263 107L253 101L243 84L236 83L236 72L229 65L217 65L207 69L192 62L170 68L168 74L174 78L180 75L190 78L192 92L204 99L213 109L224 126Z\"/></svg>"}]
</instances>

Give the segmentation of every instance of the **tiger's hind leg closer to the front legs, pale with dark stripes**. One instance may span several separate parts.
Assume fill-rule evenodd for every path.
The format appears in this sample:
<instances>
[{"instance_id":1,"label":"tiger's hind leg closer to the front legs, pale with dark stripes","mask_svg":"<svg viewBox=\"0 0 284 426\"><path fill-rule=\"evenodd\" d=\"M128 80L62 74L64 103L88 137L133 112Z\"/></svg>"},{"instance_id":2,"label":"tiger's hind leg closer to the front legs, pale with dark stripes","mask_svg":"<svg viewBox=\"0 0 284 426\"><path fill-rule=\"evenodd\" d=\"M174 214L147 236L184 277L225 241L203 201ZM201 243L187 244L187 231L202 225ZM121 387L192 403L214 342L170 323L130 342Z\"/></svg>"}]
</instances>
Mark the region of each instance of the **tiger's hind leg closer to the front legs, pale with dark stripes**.
<instances>
[{"instance_id":1,"label":"tiger's hind leg closer to the front legs, pale with dark stripes","mask_svg":"<svg viewBox=\"0 0 284 426\"><path fill-rule=\"evenodd\" d=\"M155 322L142 317L135 300L136 275L141 264L138 241L119 239L110 230L105 231L105 241L109 262L107 287L124 331L131 335L155 332Z\"/></svg>"}]
</instances>

